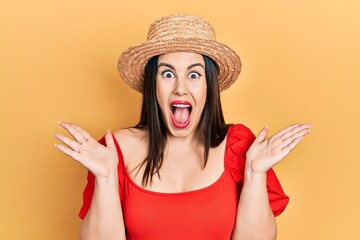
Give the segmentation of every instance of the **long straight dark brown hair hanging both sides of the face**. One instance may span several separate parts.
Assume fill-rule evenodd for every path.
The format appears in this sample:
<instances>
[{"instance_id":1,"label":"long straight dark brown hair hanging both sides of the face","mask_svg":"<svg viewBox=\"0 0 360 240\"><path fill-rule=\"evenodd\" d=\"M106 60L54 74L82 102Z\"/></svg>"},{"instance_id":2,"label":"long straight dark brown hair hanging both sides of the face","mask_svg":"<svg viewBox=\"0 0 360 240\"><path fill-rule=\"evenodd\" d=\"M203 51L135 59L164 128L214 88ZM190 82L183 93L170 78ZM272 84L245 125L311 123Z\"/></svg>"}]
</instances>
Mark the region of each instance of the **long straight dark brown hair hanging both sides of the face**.
<instances>
[{"instance_id":1,"label":"long straight dark brown hair hanging both sides of the face","mask_svg":"<svg viewBox=\"0 0 360 240\"><path fill-rule=\"evenodd\" d=\"M152 177L161 168L164 150L167 141L167 130L161 117L161 109L156 98L156 74L158 56L152 57L145 66L144 90L142 109L139 123L136 128L147 127L149 131L149 150L148 156L142 162L145 165L142 178L142 185L146 186L152 182ZM206 102L201 115L197 134L200 141L204 144L204 165L206 166L210 147L217 147L224 140L229 125L225 124L224 115L221 108L218 66L211 58L204 56L205 75L207 84ZM139 168L139 169L140 169Z\"/></svg>"}]
</instances>

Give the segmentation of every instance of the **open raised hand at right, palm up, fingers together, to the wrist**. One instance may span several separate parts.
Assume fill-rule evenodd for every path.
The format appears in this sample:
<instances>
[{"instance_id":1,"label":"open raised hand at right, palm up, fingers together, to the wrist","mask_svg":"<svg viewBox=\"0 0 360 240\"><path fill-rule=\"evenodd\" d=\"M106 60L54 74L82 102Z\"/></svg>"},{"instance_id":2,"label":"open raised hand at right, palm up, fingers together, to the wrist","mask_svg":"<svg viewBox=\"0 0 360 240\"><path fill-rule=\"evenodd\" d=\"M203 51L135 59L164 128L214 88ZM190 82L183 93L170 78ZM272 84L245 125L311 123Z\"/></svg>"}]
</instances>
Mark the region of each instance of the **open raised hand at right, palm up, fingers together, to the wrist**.
<instances>
[{"instance_id":1,"label":"open raised hand at right, palm up, fingers together, to the wrist","mask_svg":"<svg viewBox=\"0 0 360 240\"><path fill-rule=\"evenodd\" d=\"M269 130L265 127L246 153L246 170L253 174L266 173L311 132L311 127L311 124L294 124L270 138L267 138Z\"/></svg>"}]
</instances>

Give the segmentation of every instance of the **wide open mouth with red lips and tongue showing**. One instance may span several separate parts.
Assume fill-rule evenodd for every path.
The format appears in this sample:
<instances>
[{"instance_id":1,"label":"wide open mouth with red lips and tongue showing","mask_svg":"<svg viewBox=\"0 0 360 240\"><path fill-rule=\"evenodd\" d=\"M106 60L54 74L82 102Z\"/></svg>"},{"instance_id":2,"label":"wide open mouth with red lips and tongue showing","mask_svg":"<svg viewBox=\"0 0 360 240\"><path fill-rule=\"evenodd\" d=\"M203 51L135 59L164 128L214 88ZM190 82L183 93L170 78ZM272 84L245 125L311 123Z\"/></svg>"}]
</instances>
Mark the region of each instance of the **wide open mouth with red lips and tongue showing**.
<instances>
[{"instance_id":1,"label":"wide open mouth with red lips and tongue showing","mask_svg":"<svg viewBox=\"0 0 360 240\"><path fill-rule=\"evenodd\" d=\"M170 104L171 120L175 127L186 128L190 124L192 106L186 101L173 101Z\"/></svg>"}]
</instances>

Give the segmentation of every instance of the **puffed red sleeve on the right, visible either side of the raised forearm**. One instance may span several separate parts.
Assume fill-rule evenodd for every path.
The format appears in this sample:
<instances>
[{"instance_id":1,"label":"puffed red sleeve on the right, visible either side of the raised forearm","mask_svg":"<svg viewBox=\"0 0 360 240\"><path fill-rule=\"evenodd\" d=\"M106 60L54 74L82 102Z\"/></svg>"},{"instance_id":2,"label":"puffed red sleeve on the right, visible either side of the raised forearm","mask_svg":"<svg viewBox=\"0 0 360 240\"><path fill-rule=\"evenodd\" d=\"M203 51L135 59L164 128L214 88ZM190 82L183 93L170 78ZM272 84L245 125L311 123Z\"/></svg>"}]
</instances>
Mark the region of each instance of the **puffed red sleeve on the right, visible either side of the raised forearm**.
<instances>
[{"instance_id":1,"label":"puffed red sleeve on the right, visible either side of the raised forearm","mask_svg":"<svg viewBox=\"0 0 360 240\"><path fill-rule=\"evenodd\" d=\"M255 135L244 125L238 124L229 127L226 140L225 169L231 172L240 189L244 184L246 152L254 140ZM289 198L285 195L273 169L270 169L266 175L270 207L274 216L278 216L284 211Z\"/></svg>"}]
</instances>

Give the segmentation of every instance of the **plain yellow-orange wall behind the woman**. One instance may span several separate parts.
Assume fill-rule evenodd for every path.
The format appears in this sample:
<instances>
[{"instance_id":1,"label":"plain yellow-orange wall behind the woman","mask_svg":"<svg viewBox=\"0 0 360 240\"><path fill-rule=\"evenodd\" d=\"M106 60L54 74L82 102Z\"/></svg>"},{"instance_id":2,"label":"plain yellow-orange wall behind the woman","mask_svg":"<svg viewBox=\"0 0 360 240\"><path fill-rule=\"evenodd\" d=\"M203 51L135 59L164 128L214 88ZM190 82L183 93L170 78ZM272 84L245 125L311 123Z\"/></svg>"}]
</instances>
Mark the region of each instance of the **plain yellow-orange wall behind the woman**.
<instances>
[{"instance_id":1,"label":"plain yellow-orange wall behind the woman","mask_svg":"<svg viewBox=\"0 0 360 240\"><path fill-rule=\"evenodd\" d=\"M239 53L228 122L313 132L275 170L291 200L279 240L359 239L360 2L0 3L0 239L77 239L86 171L54 148L60 120L99 138L134 125L141 95L116 64L156 18L191 13Z\"/></svg>"}]
</instances>

